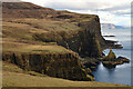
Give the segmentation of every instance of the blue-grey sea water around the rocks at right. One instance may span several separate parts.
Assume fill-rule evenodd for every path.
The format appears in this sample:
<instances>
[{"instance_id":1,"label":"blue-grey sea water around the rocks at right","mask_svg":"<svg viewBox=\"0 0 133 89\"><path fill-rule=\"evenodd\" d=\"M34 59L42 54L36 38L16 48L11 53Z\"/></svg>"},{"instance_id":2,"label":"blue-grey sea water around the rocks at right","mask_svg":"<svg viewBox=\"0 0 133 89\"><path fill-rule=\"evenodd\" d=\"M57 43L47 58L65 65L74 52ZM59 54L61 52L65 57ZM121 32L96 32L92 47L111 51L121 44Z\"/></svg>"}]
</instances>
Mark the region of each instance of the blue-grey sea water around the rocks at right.
<instances>
[{"instance_id":1,"label":"blue-grey sea water around the rocks at right","mask_svg":"<svg viewBox=\"0 0 133 89\"><path fill-rule=\"evenodd\" d=\"M133 51L131 48L131 29L102 29L102 34L115 36L104 37L104 39L119 41L117 43L121 43L123 49L113 49L116 57L122 56L131 60L131 53ZM109 51L110 49L106 49L103 52L108 55ZM133 83L131 83L131 63L119 65L113 69L108 69L100 63L98 69L93 71L93 75L95 77L95 81L133 86Z\"/></svg>"}]
</instances>

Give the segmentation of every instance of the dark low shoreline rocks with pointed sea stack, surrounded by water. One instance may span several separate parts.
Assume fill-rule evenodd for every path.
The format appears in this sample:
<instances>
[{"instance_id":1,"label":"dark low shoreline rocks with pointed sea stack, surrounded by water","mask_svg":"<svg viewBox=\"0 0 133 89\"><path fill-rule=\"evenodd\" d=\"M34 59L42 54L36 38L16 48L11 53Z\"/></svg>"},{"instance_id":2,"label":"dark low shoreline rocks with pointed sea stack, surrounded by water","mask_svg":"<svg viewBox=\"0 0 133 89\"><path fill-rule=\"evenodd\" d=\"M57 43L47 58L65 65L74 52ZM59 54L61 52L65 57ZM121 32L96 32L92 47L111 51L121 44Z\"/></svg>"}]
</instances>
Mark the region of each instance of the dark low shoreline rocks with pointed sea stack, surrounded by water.
<instances>
[{"instance_id":1,"label":"dark low shoreline rocks with pointed sea stack, surrounded by water","mask_svg":"<svg viewBox=\"0 0 133 89\"><path fill-rule=\"evenodd\" d=\"M130 59L125 57L120 56L116 58L112 49L108 56L103 55L102 58L82 58L80 61L83 65L84 69L90 68L92 71L98 68L100 62L102 62L103 66L109 69L115 68L117 65L130 63Z\"/></svg>"}]
</instances>

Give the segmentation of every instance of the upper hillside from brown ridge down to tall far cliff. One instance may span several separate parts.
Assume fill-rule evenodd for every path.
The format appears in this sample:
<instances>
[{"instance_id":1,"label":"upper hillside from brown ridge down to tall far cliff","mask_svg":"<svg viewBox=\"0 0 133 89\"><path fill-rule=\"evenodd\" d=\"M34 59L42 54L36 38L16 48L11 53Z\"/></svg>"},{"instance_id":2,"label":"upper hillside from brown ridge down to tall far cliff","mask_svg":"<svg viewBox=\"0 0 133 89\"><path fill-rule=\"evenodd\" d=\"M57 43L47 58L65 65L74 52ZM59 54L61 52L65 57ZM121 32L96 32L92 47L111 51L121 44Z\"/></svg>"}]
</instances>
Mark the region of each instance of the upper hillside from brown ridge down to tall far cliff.
<instances>
[{"instance_id":1,"label":"upper hillside from brown ridge down to tall far cliff","mask_svg":"<svg viewBox=\"0 0 133 89\"><path fill-rule=\"evenodd\" d=\"M99 57L100 49L96 47L105 47L98 16L55 11L28 2L21 3L3 3L3 37L57 42L81 56L90 57ZM94 43L93 47L90 43Z\"/></svg>"}]
</instances>

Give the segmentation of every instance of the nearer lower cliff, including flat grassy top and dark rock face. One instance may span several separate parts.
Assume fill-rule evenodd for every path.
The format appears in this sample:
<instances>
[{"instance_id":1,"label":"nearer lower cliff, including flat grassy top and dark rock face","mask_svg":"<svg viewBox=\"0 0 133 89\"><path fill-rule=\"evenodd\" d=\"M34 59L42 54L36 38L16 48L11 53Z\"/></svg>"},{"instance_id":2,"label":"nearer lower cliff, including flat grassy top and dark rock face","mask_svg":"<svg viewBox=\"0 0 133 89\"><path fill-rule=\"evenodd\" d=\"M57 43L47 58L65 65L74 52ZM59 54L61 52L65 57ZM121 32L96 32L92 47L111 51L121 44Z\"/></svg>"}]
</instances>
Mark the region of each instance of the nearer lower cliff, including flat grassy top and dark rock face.
<instances>
[{"instance_id":1,"label":"nearer lower cliff, including flat grassy top and dark rock face","mask_svg":"<svg viewBox=\"0 0 133 89\"><path fill-rule=\"evenodd\" d=\"M81 67L79 55L52 43L3 41L2 60L28 71L70 80L93 80Z\"/></svg>"}]
</instances>

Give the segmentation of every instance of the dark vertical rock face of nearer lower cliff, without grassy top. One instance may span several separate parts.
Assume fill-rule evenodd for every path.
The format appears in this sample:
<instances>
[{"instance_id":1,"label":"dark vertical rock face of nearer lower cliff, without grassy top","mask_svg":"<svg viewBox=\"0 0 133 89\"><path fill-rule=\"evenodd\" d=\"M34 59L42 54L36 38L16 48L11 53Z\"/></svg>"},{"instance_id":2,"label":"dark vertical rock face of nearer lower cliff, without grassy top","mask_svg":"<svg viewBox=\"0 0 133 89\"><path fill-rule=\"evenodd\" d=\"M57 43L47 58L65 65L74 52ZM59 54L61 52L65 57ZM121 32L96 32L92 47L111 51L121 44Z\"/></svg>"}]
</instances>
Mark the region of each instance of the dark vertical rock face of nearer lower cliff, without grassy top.
<instances>
[{"instance_id":1,"label":"dark vertical rock face of nearer lower cliff, without grassy top","mask_svg":"<svg viewBox=\"0 0 133 89\"><path fill-rule=\"evenodd\" d=\"M2 60L18 65L24 70L37 71L51 77L70 80L94 80L81 67L78 53L4 52Z\"/></svg>"}]
</instances>

